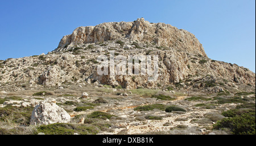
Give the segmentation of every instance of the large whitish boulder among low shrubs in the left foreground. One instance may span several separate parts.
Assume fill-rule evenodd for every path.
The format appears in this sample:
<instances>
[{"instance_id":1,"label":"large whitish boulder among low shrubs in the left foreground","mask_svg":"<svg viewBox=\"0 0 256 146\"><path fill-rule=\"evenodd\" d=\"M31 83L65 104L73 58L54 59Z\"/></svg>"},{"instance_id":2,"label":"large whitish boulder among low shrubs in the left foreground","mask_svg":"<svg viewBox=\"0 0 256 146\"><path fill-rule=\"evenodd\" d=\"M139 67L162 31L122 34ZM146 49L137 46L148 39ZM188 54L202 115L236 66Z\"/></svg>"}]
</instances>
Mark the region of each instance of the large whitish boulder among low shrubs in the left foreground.
<instances>
[{"instance_id":1,"label":"large whitish boulder among low shrubs in the left foreground","mask_svg":"<svg viewBox=\"0 0 256 146\"><path fill-rule=\"evenodd\" d=\"M55 103L40 102L32 112L30 124L68 123L71 116Z\"/></svg>"}]
</instances>

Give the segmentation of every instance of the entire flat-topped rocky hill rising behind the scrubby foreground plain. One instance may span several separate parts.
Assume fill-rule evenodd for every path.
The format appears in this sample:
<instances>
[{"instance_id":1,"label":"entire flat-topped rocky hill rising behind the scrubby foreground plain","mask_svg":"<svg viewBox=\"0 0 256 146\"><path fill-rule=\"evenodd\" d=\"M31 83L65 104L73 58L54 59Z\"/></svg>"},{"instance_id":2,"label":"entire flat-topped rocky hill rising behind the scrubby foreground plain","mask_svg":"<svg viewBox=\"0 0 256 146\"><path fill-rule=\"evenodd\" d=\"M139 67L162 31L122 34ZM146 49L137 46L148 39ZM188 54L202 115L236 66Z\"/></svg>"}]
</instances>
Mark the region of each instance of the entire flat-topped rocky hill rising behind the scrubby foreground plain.
<instances>
[{"instance_id":1,"label":"entire flat-topped rocky hill rising behind the scrubby foreground plain","mask_svg":"<svg viewBox=\"0 0 256 146\"><path fill-rule=\"evenodd\" d=\"M98 75L100 55L158 55L158 78L146 75ZM139 70L141 73L141 69ZM99 84L138 87L171 86L204 88L214 86L255 86L255 73L243 66L209 59L196 37L170 24L150 23L143 18L134 22L110 22L78 27L64 36L59 47L47 55L0 61L0 85L63 86Z\"/></svg>"}]
</instances>

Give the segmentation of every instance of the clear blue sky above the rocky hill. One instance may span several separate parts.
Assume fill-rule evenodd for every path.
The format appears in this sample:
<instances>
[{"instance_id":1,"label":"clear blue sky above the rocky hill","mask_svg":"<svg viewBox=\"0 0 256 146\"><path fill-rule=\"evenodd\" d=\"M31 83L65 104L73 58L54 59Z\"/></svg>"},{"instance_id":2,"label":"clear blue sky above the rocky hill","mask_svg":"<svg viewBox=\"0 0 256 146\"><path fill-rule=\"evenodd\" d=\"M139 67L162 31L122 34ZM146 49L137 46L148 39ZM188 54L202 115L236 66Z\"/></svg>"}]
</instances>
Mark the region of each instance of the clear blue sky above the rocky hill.
<instances>
[{"instance_id":1,"label":"clear blue sky above the rocky hill","mask_svg":"<svg viewBox=\"0 0 256 146\"><path fill-rule=\"evenodd\" d=\"M48 53L79 26L143 17L192 32L210 59L255 72L255 0L9 0L0 7L0 60Z\"/></svg>"}]
</instances>

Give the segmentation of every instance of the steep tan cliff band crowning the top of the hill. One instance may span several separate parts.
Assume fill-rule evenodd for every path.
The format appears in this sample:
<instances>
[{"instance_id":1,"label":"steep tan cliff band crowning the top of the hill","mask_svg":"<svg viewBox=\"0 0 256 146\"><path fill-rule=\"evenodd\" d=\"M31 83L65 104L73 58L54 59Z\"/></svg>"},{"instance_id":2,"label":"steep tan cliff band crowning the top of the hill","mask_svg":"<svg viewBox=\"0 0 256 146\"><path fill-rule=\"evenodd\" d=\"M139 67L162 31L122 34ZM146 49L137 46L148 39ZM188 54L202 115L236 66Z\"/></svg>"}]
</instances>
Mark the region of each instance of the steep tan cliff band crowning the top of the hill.
<instances>
[{"instance_id":1,"label":"steep tan cliff band crowning the top of the hill","mask_svg":"<svg viewBox=\"0 0 256 146\"><path fill-rule=\"evenodd\" d=\"M134 22L110 22L97 26L78 27L71 35L64 36L58 48L65 45L97 43L107 40L130 39L159 46L177 47L180 51L207 57L202 44L195 35L179 30L170 24L150 23L144 18Z\"/></svg>"}]
</instances>

